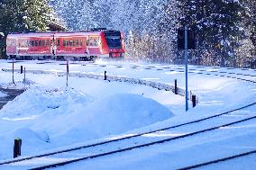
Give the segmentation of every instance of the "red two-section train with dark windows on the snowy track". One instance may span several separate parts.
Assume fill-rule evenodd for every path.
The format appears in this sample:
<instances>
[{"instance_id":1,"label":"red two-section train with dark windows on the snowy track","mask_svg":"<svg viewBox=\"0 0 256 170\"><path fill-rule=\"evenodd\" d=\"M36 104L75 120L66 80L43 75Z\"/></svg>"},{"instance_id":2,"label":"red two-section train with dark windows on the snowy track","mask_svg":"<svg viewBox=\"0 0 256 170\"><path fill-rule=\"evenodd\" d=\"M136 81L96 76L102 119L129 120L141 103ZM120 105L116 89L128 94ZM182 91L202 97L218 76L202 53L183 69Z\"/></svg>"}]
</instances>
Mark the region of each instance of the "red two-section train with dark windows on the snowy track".
<instances>
[{"instance_id":1,"label":"red two-section train with dark windows on the snowy track","mask_svg":"<svg viewBox=\"0 0 256 170\"><path fill-rule=\"evenodd\" d=\"M122 58L123 33L106 29L11 33L6 39L6 54L18 59Z\"/></svg>"}]
</instances>

